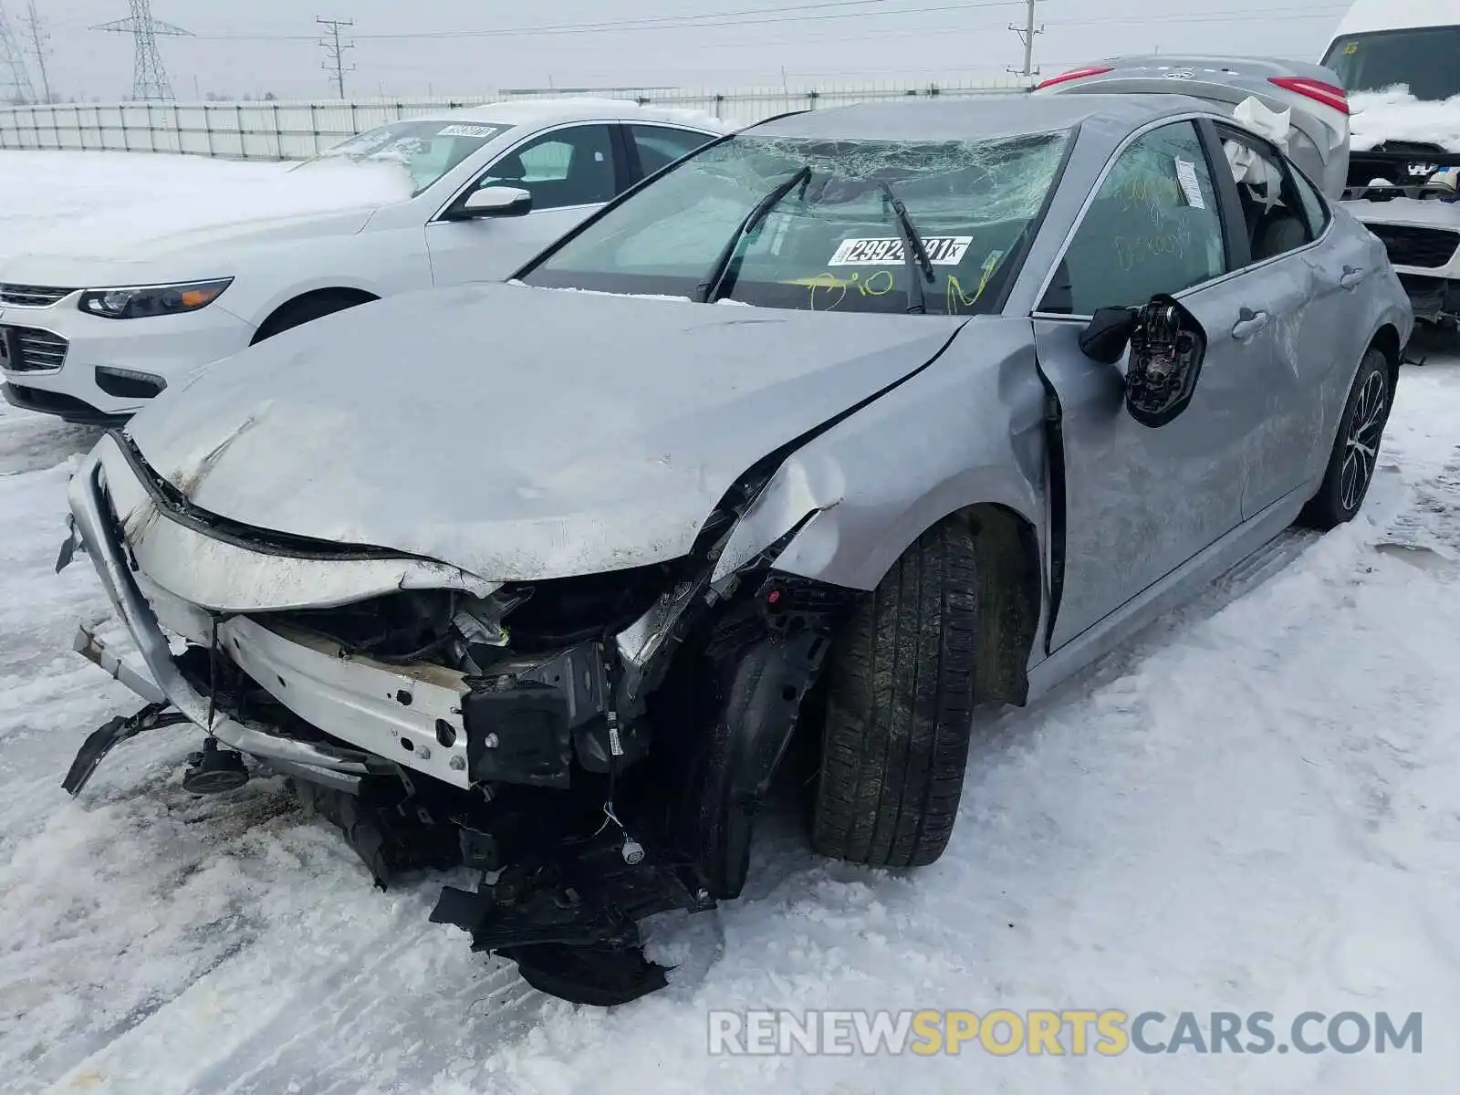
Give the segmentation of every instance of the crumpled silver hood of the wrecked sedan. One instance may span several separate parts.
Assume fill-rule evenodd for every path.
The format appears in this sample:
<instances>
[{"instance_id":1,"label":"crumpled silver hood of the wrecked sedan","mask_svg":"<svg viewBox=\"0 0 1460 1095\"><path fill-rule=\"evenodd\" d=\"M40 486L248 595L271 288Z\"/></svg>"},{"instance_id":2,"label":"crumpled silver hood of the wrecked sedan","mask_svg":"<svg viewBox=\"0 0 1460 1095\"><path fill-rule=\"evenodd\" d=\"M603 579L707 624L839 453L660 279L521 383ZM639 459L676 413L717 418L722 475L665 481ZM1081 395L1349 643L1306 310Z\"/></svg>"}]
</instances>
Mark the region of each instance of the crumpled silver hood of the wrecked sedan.
<instances>
[{"instance_id":1,"label":"crumpled silver hood of the wrecked sedan","mask_svg":"<svg viewBox=\"0 0 1460 1095\"><path fill-rule=\"evenodd\" d=\"M518 285L404 293L207 366L127 432L234 521L493 581L590 574L686 553L756 460L964 323Z\"/></svg>"}]
</instances>

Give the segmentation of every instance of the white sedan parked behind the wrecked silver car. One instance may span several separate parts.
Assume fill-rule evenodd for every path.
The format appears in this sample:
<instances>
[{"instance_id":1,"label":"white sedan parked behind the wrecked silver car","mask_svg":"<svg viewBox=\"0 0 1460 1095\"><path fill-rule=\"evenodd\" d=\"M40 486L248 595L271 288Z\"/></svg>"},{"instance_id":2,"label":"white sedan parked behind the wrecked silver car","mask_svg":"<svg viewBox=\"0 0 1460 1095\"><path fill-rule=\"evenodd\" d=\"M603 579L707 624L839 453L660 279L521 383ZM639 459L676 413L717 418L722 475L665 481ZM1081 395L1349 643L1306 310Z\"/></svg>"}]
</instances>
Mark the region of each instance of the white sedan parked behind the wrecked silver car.
<instances>
[{"instance_id":1,"label":"white sedan parked behind the wrecked silver car","mask_svg":"<svg viewBox=\"0 0 1460 1095\"><path fill-rule=\"evenodd\" d=\"M0 260L4 397L115 423L320 315L507 277L729 128L618 99L495 104L381 126L267 184L73 220Z\"/></svg>"}]
</instances>

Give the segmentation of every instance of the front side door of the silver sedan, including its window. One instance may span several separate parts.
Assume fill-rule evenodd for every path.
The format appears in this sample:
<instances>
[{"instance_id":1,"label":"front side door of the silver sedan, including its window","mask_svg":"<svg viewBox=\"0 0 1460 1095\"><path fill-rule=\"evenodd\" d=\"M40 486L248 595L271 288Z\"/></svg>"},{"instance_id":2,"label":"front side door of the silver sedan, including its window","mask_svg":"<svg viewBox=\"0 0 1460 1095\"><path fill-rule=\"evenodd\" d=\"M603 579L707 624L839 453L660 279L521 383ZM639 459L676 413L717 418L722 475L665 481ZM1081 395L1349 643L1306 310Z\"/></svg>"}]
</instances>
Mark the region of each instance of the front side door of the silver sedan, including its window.
<instances>
[{"instance_id":1,"label":"front side door of the silver sedan, including its window","mask_svg":"<svg viewBox=\"0 0 1460 1095\"><path fill-rule=\"evenodd\" d=\"M1225 168L1225 164L1222 164ZM1250 286L1229 276L1219 190L1191 121L1120 152L1034 317L1041 374L1060 404L1066 561L1050 651L1165 578L1242 520L1242 450L1266 358L1242 326ZM1079 336L1099 308L1171 293L1206 334L1190 406L1148 428L1126 410L1124 374ZM1259 388L1260 391L1260 388ZM1259 400L1260 402L1260 400Z\"/></svg>"}]
</instances>

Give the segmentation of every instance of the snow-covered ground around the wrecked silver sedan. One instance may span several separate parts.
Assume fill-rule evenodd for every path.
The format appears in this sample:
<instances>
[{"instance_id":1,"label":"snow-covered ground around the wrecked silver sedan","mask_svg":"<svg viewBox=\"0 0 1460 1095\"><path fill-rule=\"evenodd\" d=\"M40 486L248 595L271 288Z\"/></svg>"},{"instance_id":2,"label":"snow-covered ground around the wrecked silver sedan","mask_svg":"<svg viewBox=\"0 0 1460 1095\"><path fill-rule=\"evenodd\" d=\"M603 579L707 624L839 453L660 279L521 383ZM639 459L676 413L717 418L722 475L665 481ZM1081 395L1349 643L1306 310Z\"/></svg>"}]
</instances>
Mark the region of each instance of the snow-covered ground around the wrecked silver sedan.
<instances>
[{"instance_id":1,"label":"snow-covered ground around the wrecked silver sedan","mask_svg":"<svg viewBox=\"0 0 1460 1095\"><path fill-rule=\"evenodd\" d=\"M257 165L0 153L16 231ZM229 182L231 184L231 182ZM653 926L670 987L580 1010L380 892L274 780L194 799L197 734L69 653L53 574L86 429L0 409L0 1089L19 1092L1441 1092L1460 1050L1460 356L1407 368L1356 523L1289 534L988 729L920 872L816 860L790 806L745 899ZM726 1058L714 1007L1424 1012L1419 1056ZM1167 1031L1169 1034L1169 1029Z\"/></svg>"}]
</instances>

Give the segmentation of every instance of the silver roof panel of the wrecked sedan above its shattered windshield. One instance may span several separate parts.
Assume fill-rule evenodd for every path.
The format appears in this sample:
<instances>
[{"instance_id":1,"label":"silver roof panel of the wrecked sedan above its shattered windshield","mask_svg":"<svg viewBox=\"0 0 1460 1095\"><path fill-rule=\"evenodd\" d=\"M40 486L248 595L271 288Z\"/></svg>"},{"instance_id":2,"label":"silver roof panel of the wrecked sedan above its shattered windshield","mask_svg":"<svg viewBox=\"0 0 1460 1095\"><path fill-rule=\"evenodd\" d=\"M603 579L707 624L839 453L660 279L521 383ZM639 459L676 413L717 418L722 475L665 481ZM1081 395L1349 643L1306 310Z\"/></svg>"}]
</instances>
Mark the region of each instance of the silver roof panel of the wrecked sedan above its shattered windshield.
<instances>
[{"instance_id":1,"label":"silver roof panel of the wrecked sedan above its shattered windshield","mask_svg":"<svg viewBox=\"0 0 1460 1095\"><path fill-rule=\"evenodd\" d=\"M983 140L1086 123L1129 131L1171 115L1210 112L1209 104L1188 95L971 95L858 102L772 118L746 131L828 140Z\"/></svg>"}]
</instances>

